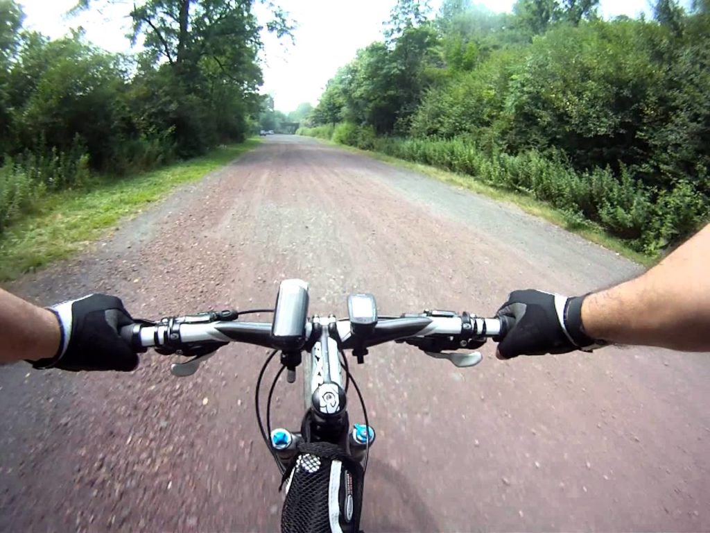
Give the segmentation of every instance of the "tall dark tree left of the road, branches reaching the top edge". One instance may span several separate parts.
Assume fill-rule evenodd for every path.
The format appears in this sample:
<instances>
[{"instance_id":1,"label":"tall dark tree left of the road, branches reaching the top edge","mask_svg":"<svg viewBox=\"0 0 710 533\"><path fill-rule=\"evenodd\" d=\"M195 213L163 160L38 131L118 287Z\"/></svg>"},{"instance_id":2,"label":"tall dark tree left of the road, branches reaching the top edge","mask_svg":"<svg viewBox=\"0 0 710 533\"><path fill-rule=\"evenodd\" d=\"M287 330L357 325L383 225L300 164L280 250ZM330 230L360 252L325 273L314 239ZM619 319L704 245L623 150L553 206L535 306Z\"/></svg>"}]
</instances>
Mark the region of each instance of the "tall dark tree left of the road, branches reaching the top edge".
<instances>
[{"instance_id":1,"label":"tall dark tree left of the road, branches reaching the top edge","mask_svg":"<svg viewBox=\"0 0 710 533\"><path fill-rule=\"evenodd\" d=\"M114 0L82 0L86 9ZM178 153L200 153L226 139L243 139L246 115L259 112L263 29L253 0L136 0L131 10L133 42L146 49L141 68L168 84L146 97L149 111L172 131ZM278 7L268 31L290 35L292 26ZM151 72L158 71L158 74Z\"/></svg>"}]
</instances>

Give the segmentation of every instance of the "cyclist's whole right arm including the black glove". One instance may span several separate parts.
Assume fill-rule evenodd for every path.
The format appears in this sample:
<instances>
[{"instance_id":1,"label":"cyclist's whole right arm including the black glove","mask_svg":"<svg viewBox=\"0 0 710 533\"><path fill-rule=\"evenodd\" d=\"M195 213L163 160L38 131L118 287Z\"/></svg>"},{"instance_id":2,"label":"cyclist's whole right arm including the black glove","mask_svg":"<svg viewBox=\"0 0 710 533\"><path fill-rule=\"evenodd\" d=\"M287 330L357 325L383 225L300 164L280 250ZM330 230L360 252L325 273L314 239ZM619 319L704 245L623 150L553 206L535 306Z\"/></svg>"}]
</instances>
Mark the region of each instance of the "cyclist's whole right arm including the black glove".
<instances>
[{"instance_id":1,"label":"cyclist's whole right arm including the black glove","mask_svg":"<svg viewBox=\"0 0 710 533\"><path fill-rule=\"evenodd\" d=\"M710 225L631 281L567 298L514 291L498 310L498 357L591 350L603 343L710 350ZM602 342L600 342L602 341Z\"/></svg>"}]
</instances>

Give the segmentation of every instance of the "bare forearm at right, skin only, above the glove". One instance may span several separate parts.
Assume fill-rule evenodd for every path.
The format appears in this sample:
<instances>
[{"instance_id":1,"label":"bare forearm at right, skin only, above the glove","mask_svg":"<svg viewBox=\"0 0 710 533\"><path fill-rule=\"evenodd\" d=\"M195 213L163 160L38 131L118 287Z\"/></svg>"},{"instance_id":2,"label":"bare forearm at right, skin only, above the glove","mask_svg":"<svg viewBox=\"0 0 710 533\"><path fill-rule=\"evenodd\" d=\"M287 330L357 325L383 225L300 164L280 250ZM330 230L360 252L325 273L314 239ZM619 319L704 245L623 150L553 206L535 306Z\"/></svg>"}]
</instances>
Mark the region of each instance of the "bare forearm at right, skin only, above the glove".
<instances>
[{"instance_id":1,"label":"bare forearm at right, skin only, above the glove","mask_svg":"<svg viewBox=\"0 0 710 533\"><path fill-rule=\"evenodd\" d=\"M588 296L582 323L618 344L710 351L710 225L636 279Z\"/></svg>"}]
</instances>

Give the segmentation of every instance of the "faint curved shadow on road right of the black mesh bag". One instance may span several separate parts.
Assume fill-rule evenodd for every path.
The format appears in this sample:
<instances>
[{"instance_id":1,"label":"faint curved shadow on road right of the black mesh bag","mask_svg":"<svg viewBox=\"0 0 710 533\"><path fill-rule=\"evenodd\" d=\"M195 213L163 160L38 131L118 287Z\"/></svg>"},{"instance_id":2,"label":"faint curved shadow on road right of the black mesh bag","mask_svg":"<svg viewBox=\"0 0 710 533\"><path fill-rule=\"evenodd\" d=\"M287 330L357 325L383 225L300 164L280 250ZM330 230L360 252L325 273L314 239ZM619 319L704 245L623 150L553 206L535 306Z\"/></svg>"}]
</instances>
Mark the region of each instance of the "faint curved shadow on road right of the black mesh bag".
<instances>
[{"instance_id":1,"label":"faint curved shadow on road right of the black mesh bag","mask_svg":"<svg viewBox=\"0 0 710 533\"><path fill-rule=\"evenodd\" d=\"M410 480L391 465L370 458L360 528L370 532L439 531L434 516Z\"/></svg>"}]
</instances>

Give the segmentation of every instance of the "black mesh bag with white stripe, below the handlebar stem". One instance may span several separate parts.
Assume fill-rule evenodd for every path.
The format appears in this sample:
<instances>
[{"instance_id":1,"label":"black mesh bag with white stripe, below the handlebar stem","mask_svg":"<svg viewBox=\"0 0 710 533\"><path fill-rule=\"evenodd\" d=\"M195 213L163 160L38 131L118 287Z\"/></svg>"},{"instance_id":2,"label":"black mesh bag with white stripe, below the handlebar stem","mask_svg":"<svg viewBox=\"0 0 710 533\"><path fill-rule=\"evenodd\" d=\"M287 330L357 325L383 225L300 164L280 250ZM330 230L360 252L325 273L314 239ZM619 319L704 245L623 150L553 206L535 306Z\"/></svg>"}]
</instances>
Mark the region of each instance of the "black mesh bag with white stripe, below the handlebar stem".
<instances>
[{"instance_id":1,"label":"black mesh bag with white stripe, below the handlebar stem","mask_svg":"<svg viewBox=\"0 0 710 533\"><path fill-rule=\"evenodd\" d=\"M364 472L339 446L300 442L283 482L282 532L359 532Z\"/></svg>"}]
</instances>

